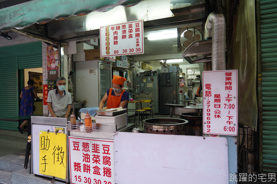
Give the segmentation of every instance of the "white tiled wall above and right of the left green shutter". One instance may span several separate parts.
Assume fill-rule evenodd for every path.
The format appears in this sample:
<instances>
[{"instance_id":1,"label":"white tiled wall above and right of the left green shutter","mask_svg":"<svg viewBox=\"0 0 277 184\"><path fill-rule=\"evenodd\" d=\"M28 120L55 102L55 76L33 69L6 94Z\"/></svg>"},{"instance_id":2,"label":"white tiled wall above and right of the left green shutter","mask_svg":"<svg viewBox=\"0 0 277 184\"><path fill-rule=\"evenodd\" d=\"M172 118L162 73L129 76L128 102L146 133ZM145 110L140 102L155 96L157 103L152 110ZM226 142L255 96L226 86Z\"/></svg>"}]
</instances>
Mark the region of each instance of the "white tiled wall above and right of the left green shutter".
<instances>
[{"instance_id":1,"label":"white tiled wall above and right of the left green shutter","mask_svg":"<svg viewBox=\"0 0 277 184\"><path fill-rule=\"evenodd\" d=\"M8 40L4 37L0 37L0 47L18 45L18 44L24 44L24 43L30 43L30 42L38 41L38 40L33 39L33 38L28 38L28 37L22 36L22 35L20 35L16 32L9 32L8 35L11 36L12 39ZM46 48L47 48L47 44L42 42L43 84L47 84L47 78L48 78ZM47 105L43 105L43 113L48 114Z\"/></svg>"}]
</instances>

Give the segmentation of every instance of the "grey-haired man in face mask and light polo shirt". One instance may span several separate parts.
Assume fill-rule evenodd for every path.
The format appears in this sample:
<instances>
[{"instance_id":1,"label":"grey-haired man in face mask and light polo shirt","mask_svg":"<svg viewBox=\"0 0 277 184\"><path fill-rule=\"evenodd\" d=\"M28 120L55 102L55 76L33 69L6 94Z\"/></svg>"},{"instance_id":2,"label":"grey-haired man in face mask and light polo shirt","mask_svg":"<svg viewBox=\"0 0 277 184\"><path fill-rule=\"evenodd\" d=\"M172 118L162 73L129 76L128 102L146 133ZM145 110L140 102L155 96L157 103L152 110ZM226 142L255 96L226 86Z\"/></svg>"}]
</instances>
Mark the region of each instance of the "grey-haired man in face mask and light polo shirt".
<instances>
[{"instance_id":1,"label":"grey-haired man in face mask and light polo shirt","mask_svg":"<svg viewBox=\"0 0 277 184\"><path fill-rule=\"evenodd\" d=\"M49 117L68 118L71 111L71 94L65 91L66 79L57 79L57 89L49 91L47 97L47 107Z\"/></svg>"}]
</instances>

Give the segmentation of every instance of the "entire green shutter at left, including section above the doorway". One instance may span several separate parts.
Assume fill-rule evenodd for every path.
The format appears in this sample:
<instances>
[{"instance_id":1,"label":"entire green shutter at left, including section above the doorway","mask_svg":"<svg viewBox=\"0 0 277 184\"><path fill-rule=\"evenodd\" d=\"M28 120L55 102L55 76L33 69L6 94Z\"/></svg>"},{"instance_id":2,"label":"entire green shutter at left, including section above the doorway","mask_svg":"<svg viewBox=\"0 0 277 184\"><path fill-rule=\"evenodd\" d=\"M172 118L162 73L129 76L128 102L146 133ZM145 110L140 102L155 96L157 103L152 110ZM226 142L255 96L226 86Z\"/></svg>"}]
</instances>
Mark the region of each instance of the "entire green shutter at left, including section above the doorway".
<instances>
[{"instance_id":1,"label":"entire green shutter at left, including section above the doorway","mask_svg":"<svg viewBox=\"0 0 277 184\"><path fill-rule=\"evenodd\" d=\"M19 69L42 67L41 41L0 48L0 117L19 116ZM20 79L20 81L19 81ZM0 121L0 129L17 130L18 122Z\"/></svg>"}]
</instances>

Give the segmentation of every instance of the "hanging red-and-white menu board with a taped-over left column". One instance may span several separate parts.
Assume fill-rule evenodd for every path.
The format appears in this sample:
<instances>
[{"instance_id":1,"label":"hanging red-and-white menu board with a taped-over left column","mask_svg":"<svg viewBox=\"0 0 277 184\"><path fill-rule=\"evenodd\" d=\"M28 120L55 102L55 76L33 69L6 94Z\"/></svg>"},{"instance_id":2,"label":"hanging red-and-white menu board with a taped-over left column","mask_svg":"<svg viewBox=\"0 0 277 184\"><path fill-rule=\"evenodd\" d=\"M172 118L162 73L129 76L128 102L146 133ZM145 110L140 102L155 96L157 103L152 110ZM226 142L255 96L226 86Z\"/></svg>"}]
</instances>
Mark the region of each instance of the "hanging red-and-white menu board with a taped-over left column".
<instances>
[{"instance_id":1,"label":"hanging red-and-white menu board with a taped-over left column","mask_svg":"<svg viewBox=\"0 0 277 184\"><path fill-rule=\"evenodd\" d=\"M143 53L143 20L100 27L101 58Z\"/></svg>"}]
</instances>

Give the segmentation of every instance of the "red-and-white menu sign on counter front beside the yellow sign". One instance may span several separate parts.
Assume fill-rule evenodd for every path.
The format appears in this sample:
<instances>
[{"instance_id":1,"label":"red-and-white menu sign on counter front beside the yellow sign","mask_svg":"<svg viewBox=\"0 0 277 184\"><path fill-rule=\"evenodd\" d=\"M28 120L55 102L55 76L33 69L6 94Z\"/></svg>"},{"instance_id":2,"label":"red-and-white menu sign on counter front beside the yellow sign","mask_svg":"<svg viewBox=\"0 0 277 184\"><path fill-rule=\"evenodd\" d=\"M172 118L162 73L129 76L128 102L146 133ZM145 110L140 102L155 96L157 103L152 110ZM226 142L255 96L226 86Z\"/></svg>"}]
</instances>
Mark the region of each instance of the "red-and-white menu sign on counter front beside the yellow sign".
<instances>
[{"instance_id":1,"label":"red-and-white menu sign on counter front beside the yellow sign","mask_svg":"<svg viewBox=\"0 0 277 184\"><path fill-rule=\"evenodd\" d=\"M114 184L113 140L68 137L70 183Z\"/></svg>"}]
</instances>

